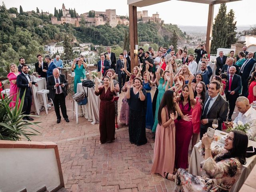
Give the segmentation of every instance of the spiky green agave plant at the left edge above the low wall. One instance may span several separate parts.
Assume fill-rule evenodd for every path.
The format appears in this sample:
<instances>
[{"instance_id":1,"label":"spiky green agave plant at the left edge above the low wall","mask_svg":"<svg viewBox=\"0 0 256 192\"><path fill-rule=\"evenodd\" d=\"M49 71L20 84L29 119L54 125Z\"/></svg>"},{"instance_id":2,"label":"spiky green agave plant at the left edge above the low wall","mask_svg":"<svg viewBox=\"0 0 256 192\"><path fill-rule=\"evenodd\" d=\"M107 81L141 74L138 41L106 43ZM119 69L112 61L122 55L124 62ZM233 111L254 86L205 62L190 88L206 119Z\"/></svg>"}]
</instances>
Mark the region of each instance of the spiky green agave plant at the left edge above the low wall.
<instances>
[{"instance_id":1,"label":"spiky green agave plant at the left edge above the low wall","mask_svg":"<svg viewBox=\"0 0 256 192\"><path fill-rule=\"evenodd\" d=\"M19 93L15 95L17 101L19 98ZM30 141L30 136L39 135L36 129L31 126L36 127L40 122L30 122L28 120L23 120L26 115L22 114L22 107L24 102L25 92L22 96L20 105L16 102L15 106L11 108L9 106L12 102L12 96L3 98L1 95L0 100L0 140L21 140L26 139ZM34 116L34 115L33 115Z\"/></svg>"}]
</instances>

